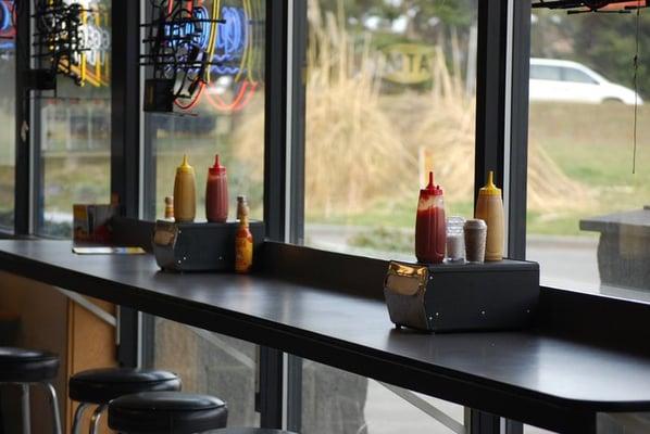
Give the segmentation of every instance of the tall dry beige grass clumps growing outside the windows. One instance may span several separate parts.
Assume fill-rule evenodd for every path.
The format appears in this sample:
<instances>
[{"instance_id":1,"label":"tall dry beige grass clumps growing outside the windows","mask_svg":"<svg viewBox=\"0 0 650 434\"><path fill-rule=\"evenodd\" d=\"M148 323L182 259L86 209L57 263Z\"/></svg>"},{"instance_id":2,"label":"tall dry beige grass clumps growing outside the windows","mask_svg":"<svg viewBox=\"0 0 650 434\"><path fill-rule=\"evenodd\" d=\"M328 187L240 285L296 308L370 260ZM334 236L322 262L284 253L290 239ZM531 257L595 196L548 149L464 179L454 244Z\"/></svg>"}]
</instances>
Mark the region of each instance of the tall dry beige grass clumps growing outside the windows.
<instances>
[{"instance_id":1,"label":"tall dry beige grass clumps growing outside the windows","mask_svg":"<svg viewBox=\"0 0 650 434\"><path fill-rule=\"evenodd\" d=\"M385 60L372 49L371 34L348 31L340 0L337 14L324 12L317 1L308 4L307 212L340 216L395 197L413 197L415 206L422 146L434 156L448 202L471 202L476 110L459 56L448 62L438 41L430 91L380 93ZM460 50L453 33L450 44ZM262 162L252 152L263 127L260 112L236 133L237 154L257 162L258 174ZM529 208L561 210L589 202L586 189L539 146L532 146L530 162Z\"/></svg>"}]
</instances>

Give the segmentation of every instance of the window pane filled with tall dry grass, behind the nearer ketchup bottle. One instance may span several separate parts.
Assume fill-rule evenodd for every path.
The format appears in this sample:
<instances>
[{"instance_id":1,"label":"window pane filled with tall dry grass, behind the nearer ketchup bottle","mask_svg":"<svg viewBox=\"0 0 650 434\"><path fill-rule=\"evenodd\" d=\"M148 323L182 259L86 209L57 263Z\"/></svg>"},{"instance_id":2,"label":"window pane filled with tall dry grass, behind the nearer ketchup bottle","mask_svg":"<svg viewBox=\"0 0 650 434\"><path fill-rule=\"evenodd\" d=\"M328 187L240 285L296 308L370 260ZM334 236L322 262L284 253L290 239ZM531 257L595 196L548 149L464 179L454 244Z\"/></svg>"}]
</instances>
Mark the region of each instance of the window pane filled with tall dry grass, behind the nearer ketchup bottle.
<instances>
[{"instance_id":1,"label":"window pane filled with tall dry grass, behind the nearer ketchup bottle","mask_svg":"<svg viewBox=\"0 0 650 434\"><path fill-rule=\"evenodd\" d=\"M308 9L304 243L411 259L428 170L473 214L477 1Z\"/></svg>"}]
</instances>

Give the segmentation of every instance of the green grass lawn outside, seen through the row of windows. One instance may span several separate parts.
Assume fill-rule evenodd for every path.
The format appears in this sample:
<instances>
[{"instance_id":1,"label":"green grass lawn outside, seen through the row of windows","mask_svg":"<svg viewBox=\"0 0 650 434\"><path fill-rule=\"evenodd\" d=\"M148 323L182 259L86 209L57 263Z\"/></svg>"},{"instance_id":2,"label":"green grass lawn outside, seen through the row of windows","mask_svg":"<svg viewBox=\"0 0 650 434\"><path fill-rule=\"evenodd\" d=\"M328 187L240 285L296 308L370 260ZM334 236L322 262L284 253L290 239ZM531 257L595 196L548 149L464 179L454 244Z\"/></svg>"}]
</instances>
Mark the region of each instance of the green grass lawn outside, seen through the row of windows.
<instances>
[{"instance_id":1,"label":"green grass lawn outside, seen through the row of windows","mask_svg":"<svg viewBox=\"0 0 650 434\"><path fill-rule=\"evenodd\" d=\"M650 204L650 123L643 122L650 116L650 106L639 108L636 174L632 173L633 115L632 107L616 104L549 103L530 106L530 146L542 149L571 180L584 186L588 191L589 201L573 201L570 197L565 208L552 213L529 209L528 233L592 235L579 231L578 224L582 218L636 209ZM224 163L228 166L232 195L245 193L251 196L252 204L262 203L261 177L250 173L247 162L237 159L233 152L236 144L229 142L227 136L214 135L159 139L159 215L162 213L162 197L172 193L175 168L184 152L191 154L191 162L197 168L199 203L204 194L202 186L205 171L215 152L222 154ZM260 158L262 157L260 145ZM529 164L538 164L533 152ZM46 206L50 210L65 212L74 202L108 202L109 179L108 154L76 155L73 152L49 155L46 158ZM13 168L10 165L1 165L0 210L10 208L13 203L13 188L10 188L12 182ZM417 186L414 186L412 194L408 196L403 193L396 195L389 187L387 186L383 196L370 197L368 205L362 212L350 214L338 210L326 216L307 209L307 220L311 224L375 228L384 233L380 238L386 239L386 245L399 244L399 241L395 241L395 234L401 234L414 226ZM309 195L309 192L307 194ZM257 205L253 208L260 217L261 206ZM472 204L468 201L448 201L447 214L470 217Z\"/></svg>"}]
</instances>

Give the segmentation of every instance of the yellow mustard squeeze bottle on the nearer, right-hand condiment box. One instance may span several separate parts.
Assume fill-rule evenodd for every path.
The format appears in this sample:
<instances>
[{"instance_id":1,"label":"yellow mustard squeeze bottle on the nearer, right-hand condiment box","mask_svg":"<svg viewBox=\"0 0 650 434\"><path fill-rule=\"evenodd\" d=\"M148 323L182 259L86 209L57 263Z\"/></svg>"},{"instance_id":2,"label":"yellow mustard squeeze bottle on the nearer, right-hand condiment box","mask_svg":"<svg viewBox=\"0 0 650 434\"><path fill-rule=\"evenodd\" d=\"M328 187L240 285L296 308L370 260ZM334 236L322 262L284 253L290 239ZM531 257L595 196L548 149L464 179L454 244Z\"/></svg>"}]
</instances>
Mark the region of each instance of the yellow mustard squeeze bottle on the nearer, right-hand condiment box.
<instances>
[{"instance_id":1,"label":"yellow mustard squeeze bottle on the nearer, right-hand condiment box","mask_svg":"<svg viewBox=\"0 0 650 434\"><path fill-rule=\"evenodd\" d=\"M496 261L503 259L503 241L505 219L503 217L503 200L501 189L495 186L495 173L490 170L487 184L478 192L475 218L487 224L487 240L485 246L485 260Z\"/></svg>"}]
</instances>

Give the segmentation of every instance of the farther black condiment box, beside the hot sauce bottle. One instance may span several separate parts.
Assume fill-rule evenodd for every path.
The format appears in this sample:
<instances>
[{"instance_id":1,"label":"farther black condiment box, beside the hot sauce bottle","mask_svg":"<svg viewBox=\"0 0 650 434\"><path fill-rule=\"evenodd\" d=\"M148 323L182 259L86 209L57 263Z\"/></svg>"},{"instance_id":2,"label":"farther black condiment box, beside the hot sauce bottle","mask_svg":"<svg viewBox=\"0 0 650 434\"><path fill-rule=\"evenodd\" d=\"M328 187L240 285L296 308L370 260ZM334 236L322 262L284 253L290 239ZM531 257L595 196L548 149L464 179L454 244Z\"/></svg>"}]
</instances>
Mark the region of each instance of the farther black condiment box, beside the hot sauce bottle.
<instances>
[{"instance_id":1,"label":"farther black condiment box, beside the hot sauce bottle","mask_svg":"<svg viewBox=\"0 0 650 434\"><path fill-rule=\"evenodd\" d=\"M165 271L233 271L238 228L238 221L177 224L159 220L152 242L155 261ZM250 221L250 231L254 255L264 242L264 224Z\"/></svg>"}]
</instances>

